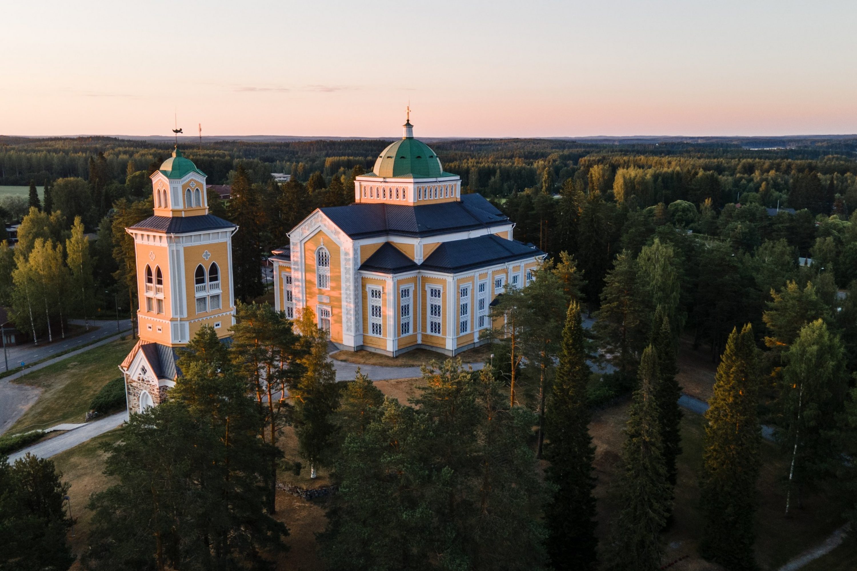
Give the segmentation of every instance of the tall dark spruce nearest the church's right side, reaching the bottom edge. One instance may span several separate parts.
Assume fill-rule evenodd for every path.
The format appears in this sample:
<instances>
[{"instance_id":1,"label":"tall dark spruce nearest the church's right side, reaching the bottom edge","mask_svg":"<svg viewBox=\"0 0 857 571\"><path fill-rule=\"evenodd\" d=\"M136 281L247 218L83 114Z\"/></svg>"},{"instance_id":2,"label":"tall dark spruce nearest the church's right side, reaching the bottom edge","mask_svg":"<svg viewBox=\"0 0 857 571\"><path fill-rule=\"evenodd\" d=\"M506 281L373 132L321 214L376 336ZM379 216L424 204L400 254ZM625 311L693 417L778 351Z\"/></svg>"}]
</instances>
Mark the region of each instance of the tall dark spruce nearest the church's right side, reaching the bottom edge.
<instances>
[{"instance_id":1,"label":"tall dark spruce nearest the church's right side, reaching the bottom edge","mask_svg":"<svg viewBox=\"0 0 857 571\"><path fill-rule=\"evenodd\" d=\"M596 503L592 462L595 447L589 433L590 412L580 305L572 301L562 332L560 364L548 401L545 455L550 466L545 479L554 497L545 509L548 556L554 569L594 569L596 563Z\"/></svg>"}]
</instances>

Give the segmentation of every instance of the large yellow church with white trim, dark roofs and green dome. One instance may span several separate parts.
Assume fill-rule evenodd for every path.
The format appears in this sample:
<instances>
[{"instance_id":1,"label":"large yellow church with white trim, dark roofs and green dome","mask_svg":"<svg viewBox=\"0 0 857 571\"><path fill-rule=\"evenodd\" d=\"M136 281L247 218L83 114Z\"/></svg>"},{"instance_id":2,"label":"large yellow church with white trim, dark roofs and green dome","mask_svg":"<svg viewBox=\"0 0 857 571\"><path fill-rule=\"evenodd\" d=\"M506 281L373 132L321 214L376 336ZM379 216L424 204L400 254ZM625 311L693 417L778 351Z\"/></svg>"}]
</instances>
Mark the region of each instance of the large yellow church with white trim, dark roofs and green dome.
<instances>
[{"instance_id":1,"label":"large yellow church with white trim, dark roofs and green dome","mask_svg":"<svg viewBox=\"0 0 857 571\"><path fill-rule=\"evenodd\" d=\"M340 349L455 355L486 342L491 301L545 254L404 128L355 179L353 204L317 209L273 251L275 305L312 309Z\"/></svg>"}]
</instances>

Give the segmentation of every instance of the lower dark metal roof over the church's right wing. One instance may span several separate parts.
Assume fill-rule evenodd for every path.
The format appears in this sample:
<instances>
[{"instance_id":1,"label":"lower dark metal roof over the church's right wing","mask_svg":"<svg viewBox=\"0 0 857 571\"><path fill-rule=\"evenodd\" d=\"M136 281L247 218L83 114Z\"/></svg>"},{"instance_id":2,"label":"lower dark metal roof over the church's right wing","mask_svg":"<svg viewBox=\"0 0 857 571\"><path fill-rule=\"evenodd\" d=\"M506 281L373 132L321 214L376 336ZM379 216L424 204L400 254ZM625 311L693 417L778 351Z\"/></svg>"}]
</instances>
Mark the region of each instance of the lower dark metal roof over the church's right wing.
<instances>
[{"instance_id":1,"label":"lower dark metal roof over the church's right wing","mask_svg":"<svg viewBox=\"0 0 857 571\"><path fill-rule=\"evenodd\" d=\"M423 261L420 268L428 271L456 273L541 255L544 253L537 247L530 247L523 242L506 240L492 234L442 242Z\"/></svg>"}]
</instances>

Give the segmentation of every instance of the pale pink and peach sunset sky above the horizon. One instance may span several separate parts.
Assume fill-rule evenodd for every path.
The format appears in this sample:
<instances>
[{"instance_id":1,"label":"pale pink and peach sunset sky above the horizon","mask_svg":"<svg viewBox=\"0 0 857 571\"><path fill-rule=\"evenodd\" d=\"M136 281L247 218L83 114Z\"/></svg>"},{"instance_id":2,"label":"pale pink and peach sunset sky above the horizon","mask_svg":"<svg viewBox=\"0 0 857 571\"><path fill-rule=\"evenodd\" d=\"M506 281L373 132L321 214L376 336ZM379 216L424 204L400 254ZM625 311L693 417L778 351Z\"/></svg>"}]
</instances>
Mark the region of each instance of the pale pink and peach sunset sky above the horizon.
<instances>
[{"instance_id":1,"label":"pale pink and peach sunset sky above the horizon","mask_svg":"<svg viewBox=\"0 0 857 571\"><path fill-rule=\"evenodd\" d=\"M854 2L7 2L0 134L857 133Z\"/></svg>"}]
</instances>

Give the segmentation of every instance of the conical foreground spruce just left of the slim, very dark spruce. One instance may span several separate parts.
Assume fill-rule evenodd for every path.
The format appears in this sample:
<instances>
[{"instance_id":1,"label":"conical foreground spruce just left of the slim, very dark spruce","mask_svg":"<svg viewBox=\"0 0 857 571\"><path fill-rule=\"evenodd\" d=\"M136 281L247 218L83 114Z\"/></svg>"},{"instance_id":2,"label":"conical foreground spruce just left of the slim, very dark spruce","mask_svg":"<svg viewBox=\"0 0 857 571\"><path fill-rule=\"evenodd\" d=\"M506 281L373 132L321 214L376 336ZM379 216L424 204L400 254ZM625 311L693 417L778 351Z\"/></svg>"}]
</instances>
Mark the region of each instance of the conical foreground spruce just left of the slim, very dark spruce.
<instances>
[{"instance_id":1,"label":"conical foreground spruce just left of the slim, very dark spruce","mask_svg":"<svg viewBox=\"0 0 857 571\"><path fill-rule=\"evenodd\" d=\"M640 359L639 389L628 410L626 441L619 476L621 511L614 521L609 545L610 571L655 571L661 567L661 530L670 502L667 469L654 385L659 377L655 348Z\"/></svg>"}]
</instances>

